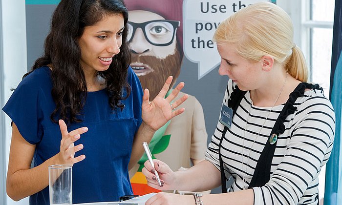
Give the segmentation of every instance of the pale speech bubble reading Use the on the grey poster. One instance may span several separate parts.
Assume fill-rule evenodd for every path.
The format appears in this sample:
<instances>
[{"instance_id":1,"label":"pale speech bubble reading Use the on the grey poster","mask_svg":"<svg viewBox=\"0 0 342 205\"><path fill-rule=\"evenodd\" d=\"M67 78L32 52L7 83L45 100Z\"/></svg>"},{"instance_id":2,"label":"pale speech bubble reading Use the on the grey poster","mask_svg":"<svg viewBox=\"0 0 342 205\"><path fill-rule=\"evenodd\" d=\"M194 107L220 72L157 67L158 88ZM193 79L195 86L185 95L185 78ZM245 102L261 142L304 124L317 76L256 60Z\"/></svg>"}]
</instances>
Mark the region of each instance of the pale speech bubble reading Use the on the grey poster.
<instances>
[{"instance_id":1,"label":"pale speech bubble reading Use the on the grey poster","mask_svg":"<svg viewBox=\"0 0 342 205\"><path fill-rule=\"evenodd\" d=\"M221 58L213 41L218 24L239 9L260 1L183 1L183 51L191 62L198 64L198 80L220 64Z\"/></svg>"}]
</instances>

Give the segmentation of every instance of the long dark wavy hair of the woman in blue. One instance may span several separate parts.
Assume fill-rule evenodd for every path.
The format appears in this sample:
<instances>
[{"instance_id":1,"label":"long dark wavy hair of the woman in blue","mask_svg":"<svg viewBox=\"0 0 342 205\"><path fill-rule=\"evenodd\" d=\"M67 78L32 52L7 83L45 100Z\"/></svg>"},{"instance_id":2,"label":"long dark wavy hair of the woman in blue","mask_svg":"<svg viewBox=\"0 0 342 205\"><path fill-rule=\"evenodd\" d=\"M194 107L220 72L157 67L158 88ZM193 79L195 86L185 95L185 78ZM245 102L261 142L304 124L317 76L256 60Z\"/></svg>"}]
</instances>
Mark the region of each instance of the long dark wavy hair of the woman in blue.
<instances>
[{"instance_id":1,"label":"long dark wavy hair of the woman in blue","mask_svg":"<svg viewBox=\"0 0 342 205\"><path fill-rule=\"evenodd\" d=\"M93 25L107 15L120 13L125 21L120 53L113 57L106 71L98 72L106 82L109 105L113 110L124 108L120 100L126 99L131 91L127 82L130 52L126 42L128 10L124 1L61 0L58 4L52 16L50 33L45 39L44 54L37 59L31 71L23 76L25 78L44 65L52 65L52 97L56 103L56 108L50 116L53 122L57 123L57 117L67 123L82 122L79 117L85 103L87 87L80 64L81 49L78 39L82 36L85 26Z\"/></svg>"}]
</instances>

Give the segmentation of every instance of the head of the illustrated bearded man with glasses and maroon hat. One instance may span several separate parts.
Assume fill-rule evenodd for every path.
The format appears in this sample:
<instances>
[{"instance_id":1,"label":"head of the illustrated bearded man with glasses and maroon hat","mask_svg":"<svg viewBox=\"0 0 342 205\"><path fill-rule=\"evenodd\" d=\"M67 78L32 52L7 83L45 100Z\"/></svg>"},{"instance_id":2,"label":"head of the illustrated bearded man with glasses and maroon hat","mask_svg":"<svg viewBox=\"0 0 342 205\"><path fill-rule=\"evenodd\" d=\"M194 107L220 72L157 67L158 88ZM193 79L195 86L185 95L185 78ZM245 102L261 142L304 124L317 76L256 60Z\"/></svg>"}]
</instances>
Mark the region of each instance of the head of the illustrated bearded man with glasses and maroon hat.
<instances>
[{"instance_id":1,"label":"head of the illustrated bearded man with glasses and maroon hat","mask_svg":"<svg viewBox=\"0 0 342 205\"><path fill-rule=\"evenodd\" d=\"M182 36L182 0L125 0L129 12L129 21L141 23L153 20L179 21L175 34L169 45L153 45L146 36L160 37L160 34L171 32L162 22L155 22L152 27L136 28L129 41L132 61L131 67L137 74L143 88L150 90L153 99L162 88L168 76L173 76L172 85L180 73L183 58ZM152 23L153 24L153 23ZM132 30L131 30L132 32ZM150 34L150 35L149 35ZM158 35L158 36L157 36ZM152 37L154 38L154 37ZM167 43L164 43L167 44Z\"/></svg>"}]
</instances>

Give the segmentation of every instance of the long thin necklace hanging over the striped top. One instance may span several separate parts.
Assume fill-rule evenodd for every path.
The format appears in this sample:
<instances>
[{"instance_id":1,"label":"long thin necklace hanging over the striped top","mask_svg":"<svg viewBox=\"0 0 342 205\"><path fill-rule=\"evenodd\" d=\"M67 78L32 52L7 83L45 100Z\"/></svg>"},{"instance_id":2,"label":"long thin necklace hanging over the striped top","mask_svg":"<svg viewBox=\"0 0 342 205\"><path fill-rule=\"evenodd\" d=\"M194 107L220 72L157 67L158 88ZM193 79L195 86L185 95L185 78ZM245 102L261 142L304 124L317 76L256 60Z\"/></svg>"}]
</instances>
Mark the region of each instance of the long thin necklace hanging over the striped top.
<instances>
[{"instance_id":1,"label":"long thin necklace hanging over the striped top","mask_svg":"<svg viewBox=\"0 0 342 205\"><path fill-rule=\"evenodd\" d=\"M251 152L252 152L252 147L253 147L254 143L256 142L256 139L257 139L257 137L259 136L259 134L260 134L260 132L261 132L261 129L264 127L264 125L265 125L265 123L266 123L268 117L270 116L270 113L271 113L273 107L274 107L274 106L276 105L276 103L278 102L278 99L279 99L279 97L280 97L280 95L281 95L281 93L282 93L282 91L283 91L283 89L284 89L286 80L287 80L287 72L286 72L285 81L284 81L283 85L281 86L281 89L280 89L280 91L279 91L279 94L278 94L278 96L277 96L277 99L276 99L276 101L273 103L273 105L272 105L270 111L268 112L268 114L267 114L267 116L266 116L266 119L265 119L264 123L262 124L262 126L261 126L259 132L256 134L256 138L254 139L251 148L249 149L248 158L247 158L247 163L246 163L246 171L245 171L245 169L244 169L244 167L245 167L245 165L244 165L244 145L245 145L246 128L247 128L247 123L248 123L248 120L249 120L249 113L251 112L251 108L252 108L252 104L253 104L253 97L254 97L254 94L252 93L252 96L251 96L251 104L250 104L249 109L248 109L248 114L247 114L247 119L246 119L245 129L244 129L244 131L243 131L243 139L242 139L242 180L243 180L243 187L242 187L242 189L245 189L245 187L246 187L247 168L248 168L249 158L250 158L250 155L251 155Z\"/></svg>"}]
</instances>

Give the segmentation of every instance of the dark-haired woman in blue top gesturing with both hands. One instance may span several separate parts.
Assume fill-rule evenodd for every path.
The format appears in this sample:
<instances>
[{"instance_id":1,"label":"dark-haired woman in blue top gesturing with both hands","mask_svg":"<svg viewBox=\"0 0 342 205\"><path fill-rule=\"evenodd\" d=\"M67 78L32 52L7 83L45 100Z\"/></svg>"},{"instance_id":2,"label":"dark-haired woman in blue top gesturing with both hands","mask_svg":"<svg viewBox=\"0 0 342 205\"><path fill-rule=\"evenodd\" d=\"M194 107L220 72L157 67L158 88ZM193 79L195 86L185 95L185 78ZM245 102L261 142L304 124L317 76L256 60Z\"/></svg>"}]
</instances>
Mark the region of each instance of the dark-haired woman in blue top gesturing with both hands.
<instances>
[{"instance_id":1,"label":"dark-haired woman in blue top gesturing with both hands","mask_svg":"<svg viewBox=\"0 0 342 205\"><path fill-rule=\"evenodd\" d=\"M75 204L132 194L128 167L141 157L142 142L184 111L174 109L187 96L170 106L184 83L164 99L169 77L149 101L128 66L127 21L122 0L57 6L43 57L3 108L13 126L6 187L12 199L48 205L51 164L73 164Z\"/></svg>"}]
</instances>

